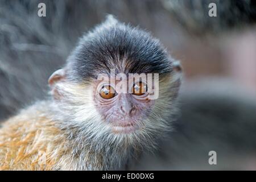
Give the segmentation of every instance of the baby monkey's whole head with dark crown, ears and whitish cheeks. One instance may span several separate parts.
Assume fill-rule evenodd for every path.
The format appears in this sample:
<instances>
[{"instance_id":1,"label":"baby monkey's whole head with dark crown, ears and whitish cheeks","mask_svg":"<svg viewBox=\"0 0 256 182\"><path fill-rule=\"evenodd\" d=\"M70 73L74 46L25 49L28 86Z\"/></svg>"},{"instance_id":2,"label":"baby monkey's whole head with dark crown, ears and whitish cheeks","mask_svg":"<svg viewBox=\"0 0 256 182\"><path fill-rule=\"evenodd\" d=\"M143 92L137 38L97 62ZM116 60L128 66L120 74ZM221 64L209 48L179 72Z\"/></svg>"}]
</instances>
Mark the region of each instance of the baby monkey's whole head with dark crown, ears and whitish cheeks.
<instances>
[{"instance_id":1,"label":"baby monkey's whole head with dark crown, ears and whitish cheeks","mask_svg":"<svg viewBox=\"0 0 256 182\"><path fill-rule=\"evenodd\" d=\"M61 126L79 129L72 136L138 147L170 129L180 76L158 39L108 16L80 39L49 85Z\"/></svg>"}]
</instances>

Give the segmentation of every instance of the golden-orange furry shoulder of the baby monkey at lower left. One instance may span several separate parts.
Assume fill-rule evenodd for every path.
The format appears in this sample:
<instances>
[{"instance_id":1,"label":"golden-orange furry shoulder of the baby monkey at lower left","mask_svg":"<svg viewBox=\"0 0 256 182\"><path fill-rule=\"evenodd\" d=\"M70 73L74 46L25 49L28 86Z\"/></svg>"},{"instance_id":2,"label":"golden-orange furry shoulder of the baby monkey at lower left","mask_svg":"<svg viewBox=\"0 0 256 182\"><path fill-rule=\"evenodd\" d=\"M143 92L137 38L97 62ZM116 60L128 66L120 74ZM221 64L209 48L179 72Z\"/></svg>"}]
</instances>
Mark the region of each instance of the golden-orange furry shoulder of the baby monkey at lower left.
<instances>
[{"instance_id":1,"label":"golden-orange furry shoulder of the baby monkey at lower left","mask_svg":"<svg viewBox=\"0 0 256 182\"><path fill-rule=\"evenodd\" d=\"M36 103L2 124L0 169L51 170L65 155L65 137L47 113L47 101Z\"/></svg>"}]
</instances>

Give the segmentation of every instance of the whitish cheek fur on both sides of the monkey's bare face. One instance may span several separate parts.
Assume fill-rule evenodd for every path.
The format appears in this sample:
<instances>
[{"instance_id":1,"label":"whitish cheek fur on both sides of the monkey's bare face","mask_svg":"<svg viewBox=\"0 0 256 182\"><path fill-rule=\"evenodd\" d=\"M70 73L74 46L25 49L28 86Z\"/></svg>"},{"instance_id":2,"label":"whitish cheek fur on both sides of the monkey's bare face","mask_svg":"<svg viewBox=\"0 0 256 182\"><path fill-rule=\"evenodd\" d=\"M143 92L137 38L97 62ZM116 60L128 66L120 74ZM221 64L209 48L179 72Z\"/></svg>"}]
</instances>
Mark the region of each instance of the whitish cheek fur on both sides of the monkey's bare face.
<instances>
[{"instance_id":1,"label":"whitish cheek fur on both sides of the monkey's bare face","mask_svg":"<svg viewBox=\"0 0 256 182\"><path fill-rule=\"evenodd\" d=\"M138 131L138 134L146 134L146 131L156 132L158 130L166 130L167 122L164 121L164 115L170 114L171 105L166 98L172 97L172 92L170 88L172 86L171 78L167 78L164 81L160 81L160 95L159 99L156 100L152 112L148 118L143 119L144 128L141 131ZM108 123L102 121L101 115L98 112L95 102L94 93L96 91L96 86L93 86L92 83L88 85L75 85L75 84L60 84L58 85L60 90L63 90L63 94L67 97L64 97L62 104L63 113L69 115L71 118L71 125L79 126L81 128L86 128L86 132L92 134L94 137L104 134L108 134L109 137L111 134L111 127ZM61 105L60 105L61 107ZM171 110L176 111L176 110ZM157 121L157 122L156 122ZM90 137L93 137L90 136ZM119 135L118 135L119 136ZM115 136L116 138L117 136Z\"/></svg>"}]
</instances>

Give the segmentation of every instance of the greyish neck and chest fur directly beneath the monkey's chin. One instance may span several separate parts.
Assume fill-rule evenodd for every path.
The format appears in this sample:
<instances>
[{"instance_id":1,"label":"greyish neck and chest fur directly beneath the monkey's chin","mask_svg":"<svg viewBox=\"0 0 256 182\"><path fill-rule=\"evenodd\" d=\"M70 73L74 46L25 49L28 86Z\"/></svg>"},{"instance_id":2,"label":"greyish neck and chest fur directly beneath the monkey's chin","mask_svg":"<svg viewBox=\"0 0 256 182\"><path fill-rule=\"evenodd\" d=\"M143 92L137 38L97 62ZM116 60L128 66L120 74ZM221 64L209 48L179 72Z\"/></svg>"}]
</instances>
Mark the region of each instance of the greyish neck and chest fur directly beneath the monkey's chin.
<instances>
[{"instance_id":1,"label":"greyish neck and chest fur directly beneath the monkey's chin","mask_svg":"<svg viewBox=\"0 0 256 182\"><path fill-rule=\"evenodd\" d=\"M80 170L127 169L127 166L141 153L133 146L125 146L125 144L117 146L109 142L104 143L103 140L91 142L77 135L73 135L68 144L72 148L71 155L75 157L75 166Z\"/></svg>"}]
</instances>

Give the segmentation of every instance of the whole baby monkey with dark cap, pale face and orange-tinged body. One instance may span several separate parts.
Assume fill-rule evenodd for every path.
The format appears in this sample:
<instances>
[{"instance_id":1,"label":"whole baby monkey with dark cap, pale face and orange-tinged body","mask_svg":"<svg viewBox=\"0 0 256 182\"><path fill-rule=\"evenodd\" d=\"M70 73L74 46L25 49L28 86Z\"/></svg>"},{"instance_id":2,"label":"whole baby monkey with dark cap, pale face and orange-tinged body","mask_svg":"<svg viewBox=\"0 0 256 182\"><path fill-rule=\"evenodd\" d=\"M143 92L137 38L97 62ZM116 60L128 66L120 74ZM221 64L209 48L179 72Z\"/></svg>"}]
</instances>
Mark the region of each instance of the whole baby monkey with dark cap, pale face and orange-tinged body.
<instances>
[{"instance_id":1,"label":"whole baby monkey with dark cap, pale face and orange-tinged body","mask_svg":"<svg viewBox=\"0 0 256 182\"><path fill-rule=\"evenodd\" d=\"M119 73L157 73L158 83ZM0 169L126 169L171 129L180 76L159 40L108 16L49 78L51 98L3 122ZM127 93L115 86L124 80Z\"/></svg>"}]
</instances>

